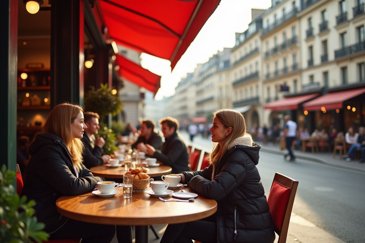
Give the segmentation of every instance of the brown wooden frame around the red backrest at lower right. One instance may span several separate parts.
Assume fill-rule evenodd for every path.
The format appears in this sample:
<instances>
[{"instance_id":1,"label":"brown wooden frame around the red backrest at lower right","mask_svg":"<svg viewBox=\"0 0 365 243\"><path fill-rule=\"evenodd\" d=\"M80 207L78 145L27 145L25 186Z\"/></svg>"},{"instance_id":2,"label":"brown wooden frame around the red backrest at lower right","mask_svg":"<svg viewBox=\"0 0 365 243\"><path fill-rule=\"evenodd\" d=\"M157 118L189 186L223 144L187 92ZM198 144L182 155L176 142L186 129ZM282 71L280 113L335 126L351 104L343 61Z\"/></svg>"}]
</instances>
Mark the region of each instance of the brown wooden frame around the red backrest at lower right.
<instances>
[{"instance_id":1,"label":"brown wooden frame around the red backrest at lower right","mask_svg":"<svg viewBox=\"0 0 365 243\"><path fill-rule=\"evenodd\" d=\"M277 183L280 183L281 185L284 185L285 187L290 188L289 197L287 201L287 205L285 206L285 213L283 217L283 223L281 226L281 230L279 230L276 226L274 226L274 231L279 236L279 240L277 243L285 243L287 241L287 234L288 234L288 228L289 228L289 221L290 216L293 209L293 203L295 199L295 194L298 188L299 181L296 181L290 177L284 176L280 173L275 173L273 183L276 181ZM271 185L272 187L272 185Z\"/></svg>"}]
</instances>

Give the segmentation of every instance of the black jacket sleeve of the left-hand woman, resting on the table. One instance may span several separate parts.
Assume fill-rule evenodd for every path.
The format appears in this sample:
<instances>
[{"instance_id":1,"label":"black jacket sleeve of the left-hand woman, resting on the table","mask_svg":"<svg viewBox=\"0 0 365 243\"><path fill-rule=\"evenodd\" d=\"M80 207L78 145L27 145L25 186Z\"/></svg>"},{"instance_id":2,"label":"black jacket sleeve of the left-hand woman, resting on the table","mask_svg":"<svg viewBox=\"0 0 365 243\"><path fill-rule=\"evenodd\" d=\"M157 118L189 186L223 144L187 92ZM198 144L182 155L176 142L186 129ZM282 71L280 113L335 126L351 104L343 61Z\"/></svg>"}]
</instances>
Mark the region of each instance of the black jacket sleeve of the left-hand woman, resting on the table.
<instances>
[{"instance_id":1,"label":"black jacket sleeve of the left-hand woman, resting on the table","mask_svg":"<svg viewBox=\"0 0 365 243\"><path fill-rule=\"evenodd\" d=\"M54 146L46 146L42 151L42 159L37 162L37 167L38 176L59 193L66 196L80 195L91 191L96 183L101 181L100 177L93 176L85 166L82 166L78 174L79 178L74 176L71 172L74 168L69 168L61 156L64 151L56 149L58 149L57 152Z\"/></svg>"}]
</instances>

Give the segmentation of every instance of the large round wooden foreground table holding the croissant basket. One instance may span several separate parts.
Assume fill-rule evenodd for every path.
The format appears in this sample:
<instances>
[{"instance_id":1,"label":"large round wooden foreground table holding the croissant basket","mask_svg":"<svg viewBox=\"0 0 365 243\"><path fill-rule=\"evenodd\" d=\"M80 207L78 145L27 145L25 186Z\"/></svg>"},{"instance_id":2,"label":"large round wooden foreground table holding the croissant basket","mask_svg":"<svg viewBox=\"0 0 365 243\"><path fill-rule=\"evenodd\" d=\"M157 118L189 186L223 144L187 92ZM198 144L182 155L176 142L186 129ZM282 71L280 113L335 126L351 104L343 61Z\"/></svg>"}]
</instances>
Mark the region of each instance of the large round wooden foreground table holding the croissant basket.
<instances>
[{"instance_id":1,"label":"large round wooden foreground table holding the croissant basket","mask_svg":"<svg viewBox=\"0 0 365 243\"><path fill-rule=\"evenodd\" d=\"M181 189L184 192L194 192L188 187ZM97 197L91 192L78 196L62 196L56 201L57 210L70 219L83 222L135 225L136 243L148 242L149 225L192 222L208 217L217 210L215 200L200 195L191 202L164 202L144 192L134 192L131 198L124 198L123 188L118 190L121 193L108 198ZM170 198L171 195L164 197Z\"/></svg>"}]
</instances>

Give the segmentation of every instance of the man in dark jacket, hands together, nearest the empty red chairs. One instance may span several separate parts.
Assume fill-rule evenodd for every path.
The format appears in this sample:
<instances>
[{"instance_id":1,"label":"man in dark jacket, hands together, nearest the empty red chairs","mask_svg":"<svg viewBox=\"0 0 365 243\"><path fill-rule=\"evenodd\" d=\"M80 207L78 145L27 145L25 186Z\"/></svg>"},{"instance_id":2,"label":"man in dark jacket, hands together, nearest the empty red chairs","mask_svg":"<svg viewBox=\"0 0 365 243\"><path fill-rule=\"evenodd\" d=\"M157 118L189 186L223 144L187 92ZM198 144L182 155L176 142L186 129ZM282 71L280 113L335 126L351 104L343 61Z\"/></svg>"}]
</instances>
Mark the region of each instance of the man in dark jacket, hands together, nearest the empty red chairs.
<instances>
[{"instance_id":1,"label":"man in dark jacket, hands together, nearest the empty red chairs","mask_svg":"<svg viewBox=\"0 0 365 243\"><path fill-rule=\"evenodd\" d=\"M183 171L190 171L188 150L184 139L176 132L179 122L172 117L165 117L160 120L161 130L165 137L162 145L162 153L156 151L151 145L141 148L141 151L157 158L164 165L171 166L173 174Z\"/></svg>"}]
</instances>

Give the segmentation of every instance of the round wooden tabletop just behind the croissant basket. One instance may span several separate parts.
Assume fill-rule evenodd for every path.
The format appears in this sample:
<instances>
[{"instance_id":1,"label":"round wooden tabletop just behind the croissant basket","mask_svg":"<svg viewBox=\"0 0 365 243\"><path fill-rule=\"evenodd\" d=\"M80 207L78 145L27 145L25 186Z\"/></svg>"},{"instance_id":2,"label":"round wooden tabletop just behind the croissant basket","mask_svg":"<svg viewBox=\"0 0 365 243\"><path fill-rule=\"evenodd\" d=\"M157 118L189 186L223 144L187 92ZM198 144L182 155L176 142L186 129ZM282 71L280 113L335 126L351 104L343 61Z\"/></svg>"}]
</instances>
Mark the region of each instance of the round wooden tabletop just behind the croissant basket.
<instances>
[{"instance_id":1,"label":"round wooden tabletop just behind the croissant basket","mask_svg":"<svg viewBox=\"0 0 365 243\"><path fill-rule=\"evenodd\" d=\"M172 168L167 165L160 165L147 169L147 175L149 175L150 177L168 175L172 171ZM94 176L102 176L108 178L123 178L123 175L127 172L124 170L124 167L110 168L105 165L91 167L90 171L93 173Z\"/></svg>"}]
</instances>

